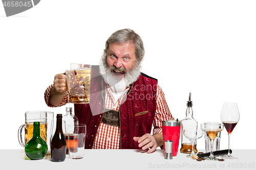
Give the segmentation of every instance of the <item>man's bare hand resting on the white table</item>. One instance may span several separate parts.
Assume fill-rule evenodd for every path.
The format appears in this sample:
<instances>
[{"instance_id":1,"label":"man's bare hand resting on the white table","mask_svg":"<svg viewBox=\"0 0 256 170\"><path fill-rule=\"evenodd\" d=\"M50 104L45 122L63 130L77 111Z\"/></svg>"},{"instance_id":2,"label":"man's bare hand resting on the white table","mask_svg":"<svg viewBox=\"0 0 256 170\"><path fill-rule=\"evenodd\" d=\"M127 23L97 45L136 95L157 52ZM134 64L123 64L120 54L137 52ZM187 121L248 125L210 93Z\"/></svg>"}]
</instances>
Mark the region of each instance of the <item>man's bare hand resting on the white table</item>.
<instances>
[{"instance_id":1,"label":"man's bare hand resting on the white table","mask_svg":"<svg viewBox=\"0 0 256 170\"><path fill-rule=\"evenodd\" d=\"M142 150L151 148L147 153L152 153L163 144L163 135L161 133L154 135L146 133L141 137L134 137L133 140L138 141L139 147L142 147Z\"/></svg>"}]
</instances>

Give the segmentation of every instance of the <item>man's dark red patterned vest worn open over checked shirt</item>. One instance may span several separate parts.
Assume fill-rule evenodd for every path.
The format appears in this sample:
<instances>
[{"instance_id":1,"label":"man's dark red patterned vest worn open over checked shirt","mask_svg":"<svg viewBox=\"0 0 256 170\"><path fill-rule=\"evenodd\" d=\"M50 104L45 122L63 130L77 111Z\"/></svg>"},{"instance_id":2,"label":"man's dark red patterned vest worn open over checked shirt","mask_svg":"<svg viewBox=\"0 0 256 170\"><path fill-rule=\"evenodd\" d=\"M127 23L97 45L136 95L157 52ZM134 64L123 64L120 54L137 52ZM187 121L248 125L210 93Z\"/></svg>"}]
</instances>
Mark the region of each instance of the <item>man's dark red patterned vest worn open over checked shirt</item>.
<instances>
[{"instance_id":1,"label":"man's dark red patterned vest worn open over checked shirt","mask_svg":"<svg viewBox=\"0 0 256 170\"><path fill-rule=\"evenodd\" d=\"M105 104L105 82L99 67L92 67L90 104L74 104L80 124L87 125L85 149L92 149ZM151 133L156 113L157 80L141 73L121 101L119 109L121 149L140 149L133 137Z\"/></svg>"}]
</instances>

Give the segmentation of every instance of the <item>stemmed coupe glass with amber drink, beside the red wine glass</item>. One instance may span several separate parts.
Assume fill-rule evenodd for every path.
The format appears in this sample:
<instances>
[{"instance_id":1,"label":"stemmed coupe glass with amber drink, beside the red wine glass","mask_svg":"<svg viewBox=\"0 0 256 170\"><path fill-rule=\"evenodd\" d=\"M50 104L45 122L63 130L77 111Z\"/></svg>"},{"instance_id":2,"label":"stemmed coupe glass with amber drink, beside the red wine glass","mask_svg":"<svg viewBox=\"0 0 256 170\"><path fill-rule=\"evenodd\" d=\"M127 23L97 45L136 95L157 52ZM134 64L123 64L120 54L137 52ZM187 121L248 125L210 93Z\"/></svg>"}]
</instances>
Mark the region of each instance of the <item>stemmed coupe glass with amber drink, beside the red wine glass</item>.
<instances>
[{"instance_id":1,"label":"stemmed coupe glass with amber drink, beside the red wine glass","mask_svg":"<svg viewBox=\"0 0 256 170\"><path fill-rule=\"evenodd\" d=\"M210 139L210 156L206 160L218 160L214 156L214 139L218 133L223 130L223 124L219 122L205 122L201 124L201 129L206 132L206 136Z\"/></svg>"}]
</instances>

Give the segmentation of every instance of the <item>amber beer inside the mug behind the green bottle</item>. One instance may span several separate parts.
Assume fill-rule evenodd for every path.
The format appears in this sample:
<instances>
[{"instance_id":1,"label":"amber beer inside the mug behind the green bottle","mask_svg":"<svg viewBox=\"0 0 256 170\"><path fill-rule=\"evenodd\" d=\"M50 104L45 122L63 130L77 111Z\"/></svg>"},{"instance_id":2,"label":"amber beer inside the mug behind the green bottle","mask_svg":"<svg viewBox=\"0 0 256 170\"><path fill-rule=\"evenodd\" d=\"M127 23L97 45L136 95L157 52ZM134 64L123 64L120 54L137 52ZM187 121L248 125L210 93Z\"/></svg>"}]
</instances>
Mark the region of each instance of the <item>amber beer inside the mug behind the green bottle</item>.
<instances>
[{"instance_id":1,"label":"amber beer inside the mug behind the green bottle","mask_svg":"<svg viewBox=\"0 0 256 170\"><path fill-rule=\"evenodd\" d=\"M25 144L33 137L33 122L25 123ZM40 137L47 142L47 123L40 122Z\"/></svg>"}]
</instances>

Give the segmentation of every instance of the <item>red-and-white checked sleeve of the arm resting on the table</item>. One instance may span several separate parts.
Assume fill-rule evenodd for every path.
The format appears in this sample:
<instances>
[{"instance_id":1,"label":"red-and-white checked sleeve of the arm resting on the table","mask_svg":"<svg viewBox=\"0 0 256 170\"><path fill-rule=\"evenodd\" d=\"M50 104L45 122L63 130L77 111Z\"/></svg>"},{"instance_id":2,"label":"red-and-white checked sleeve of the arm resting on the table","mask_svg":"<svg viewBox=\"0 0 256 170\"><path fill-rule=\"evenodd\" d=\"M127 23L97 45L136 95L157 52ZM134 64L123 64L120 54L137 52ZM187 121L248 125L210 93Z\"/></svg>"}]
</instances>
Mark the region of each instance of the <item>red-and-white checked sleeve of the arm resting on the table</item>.
<instances>
[{"instance_id":1,"label":"red-and-white checked sleeve of the arm resting on the table","mask_svg":"<svg viewBox=\"0 0 256 170\"><path fill-rule=\"evenodd\" d=\"M174 117L169 111L161 87L157 85L157 109L153 122L153 134L162 133L162 120L174 120Z\"/></svg>"}]
</instances>

